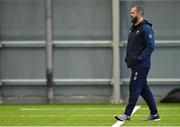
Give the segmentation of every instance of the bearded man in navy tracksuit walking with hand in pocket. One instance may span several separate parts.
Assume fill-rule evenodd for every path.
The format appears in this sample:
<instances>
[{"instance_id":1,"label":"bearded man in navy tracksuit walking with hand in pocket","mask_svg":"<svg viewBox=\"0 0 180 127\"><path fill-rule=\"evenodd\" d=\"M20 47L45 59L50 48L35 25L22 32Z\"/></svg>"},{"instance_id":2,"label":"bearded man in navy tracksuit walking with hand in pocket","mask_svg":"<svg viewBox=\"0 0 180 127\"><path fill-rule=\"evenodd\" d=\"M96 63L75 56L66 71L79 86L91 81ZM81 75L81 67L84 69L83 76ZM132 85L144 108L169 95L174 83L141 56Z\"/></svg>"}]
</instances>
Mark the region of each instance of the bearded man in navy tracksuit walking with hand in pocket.
<instances>
[{"instance_id":1,"label":"bearded man in navy tracksuit walking with hand in pocket","mask_svg":"<svg viewBox=\"0 0 180 127\"><path fill-rule=\"evenodd\" d=\"M154 33L152 24L144 20L143 8L134 6L131 9L132 26L128 37L126 64L131 68L129 84L129 100L123 115L115 116L117 120L130 120L131 113L138 101L139 95L146 101L150 115L146 120L159 121L160 117L150 88L147 85L147 75L151 64L151 53L154 50Z\"/></svg>"}]
</instances>

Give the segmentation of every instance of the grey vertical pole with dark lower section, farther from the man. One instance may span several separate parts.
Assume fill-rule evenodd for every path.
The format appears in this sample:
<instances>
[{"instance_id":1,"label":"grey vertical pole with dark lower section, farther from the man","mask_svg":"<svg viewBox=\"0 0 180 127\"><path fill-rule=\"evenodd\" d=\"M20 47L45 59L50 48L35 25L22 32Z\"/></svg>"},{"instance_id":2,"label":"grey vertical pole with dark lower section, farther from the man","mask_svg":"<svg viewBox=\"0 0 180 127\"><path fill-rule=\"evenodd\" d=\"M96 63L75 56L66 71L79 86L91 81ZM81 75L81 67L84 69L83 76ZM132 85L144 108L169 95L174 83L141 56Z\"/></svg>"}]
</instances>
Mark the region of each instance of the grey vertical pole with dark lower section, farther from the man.
<instances>
[{"instance_id":1,"label":"grey vertical pole with dark lower section, farther from the man","mask_svg":"<svg viewBox=\"0 0 180 127\"><path fill-rule=\"evenodd\" d=\"M52 44L52 0L45 0L45 38L46 38L46 81L47 102L54 103L53 93L53 44Z\"/></svg>"}]
</instances>

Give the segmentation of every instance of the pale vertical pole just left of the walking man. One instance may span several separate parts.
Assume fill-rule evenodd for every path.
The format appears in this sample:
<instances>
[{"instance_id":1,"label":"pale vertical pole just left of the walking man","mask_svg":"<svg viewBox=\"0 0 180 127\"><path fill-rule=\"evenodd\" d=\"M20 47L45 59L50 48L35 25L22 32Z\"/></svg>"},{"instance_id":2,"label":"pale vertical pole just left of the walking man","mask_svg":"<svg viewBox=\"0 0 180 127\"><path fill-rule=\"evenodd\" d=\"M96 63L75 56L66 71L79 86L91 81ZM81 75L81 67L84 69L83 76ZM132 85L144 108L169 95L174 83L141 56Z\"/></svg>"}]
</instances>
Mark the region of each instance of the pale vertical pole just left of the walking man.
<instances>
[{"instance_id":1,"label":"pale vertical pole just left of the walking man","mask_svg":"<svg viewBox=\"0 0 180 127\"><path fill-rule=\"evenodd\" d=\"M112 0L113 91L114 103L120 103L119 0Z\"/></svg>"}]
</instances>

